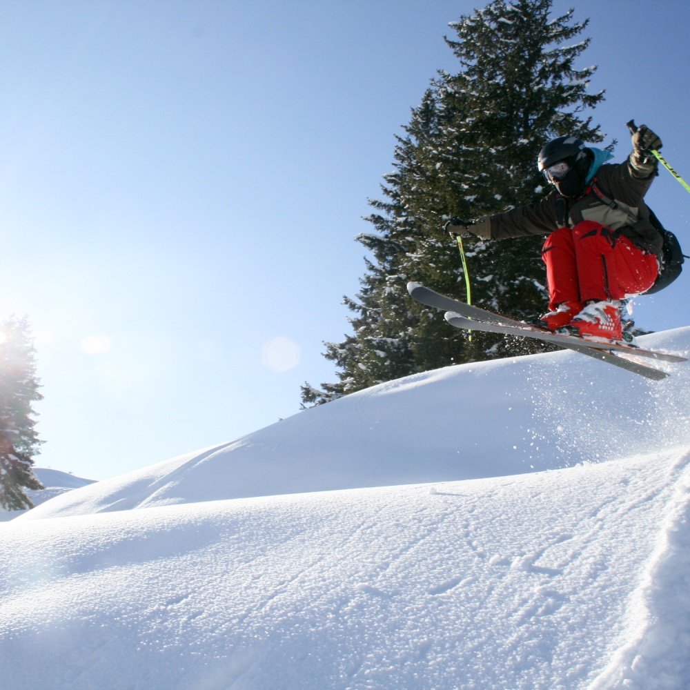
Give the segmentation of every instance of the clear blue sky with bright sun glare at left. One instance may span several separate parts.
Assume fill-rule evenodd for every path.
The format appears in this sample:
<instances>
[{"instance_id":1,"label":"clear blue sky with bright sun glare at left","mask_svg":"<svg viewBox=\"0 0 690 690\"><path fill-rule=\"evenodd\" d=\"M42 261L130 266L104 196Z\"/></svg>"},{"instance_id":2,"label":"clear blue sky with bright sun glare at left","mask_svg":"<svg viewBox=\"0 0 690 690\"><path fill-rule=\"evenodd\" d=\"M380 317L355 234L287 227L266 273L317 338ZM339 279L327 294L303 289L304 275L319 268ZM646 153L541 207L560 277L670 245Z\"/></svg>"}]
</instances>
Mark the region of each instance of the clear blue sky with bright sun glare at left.
<instances>
[{"instance_id":1,"label":"clear blue sky with bright sun glare at left","mask_svg":"<svg viewBox=\"0 0 690 690\"><path fill-rule=\"evenodd\" d=\"M105 479L233 440L335 381L395 135L466 0L0 1L0 315L36 337L39 466ZM573 0L595 121L690 179L690 3ZM690 253L690 194L648 196ZM453 246L449 246L453 251ZM690 273L635 303L690 324ZM603 366L603 365L602 365Z\"/></svg>"}]
</instances>

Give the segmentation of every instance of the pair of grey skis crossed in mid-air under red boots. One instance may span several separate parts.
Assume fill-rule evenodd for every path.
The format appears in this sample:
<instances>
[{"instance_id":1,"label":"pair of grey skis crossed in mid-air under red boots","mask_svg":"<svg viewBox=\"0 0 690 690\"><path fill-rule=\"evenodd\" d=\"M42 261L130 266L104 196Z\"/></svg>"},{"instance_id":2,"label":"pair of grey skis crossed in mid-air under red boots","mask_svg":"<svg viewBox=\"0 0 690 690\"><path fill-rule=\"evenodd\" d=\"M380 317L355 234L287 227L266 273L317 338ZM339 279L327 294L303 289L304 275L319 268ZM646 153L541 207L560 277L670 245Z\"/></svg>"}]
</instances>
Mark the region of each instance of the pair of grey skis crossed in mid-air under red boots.
<instances>
[{"instance_id":1,"label":"pair of grey skis crossed in mid-air under red boots","mask_svg":"<svg viewBox=\"0 0 690 690\"><path fill-rule=\"evenodd\" d=\"M488 333L502 333L504 335L520 335L522 337L534 338L542 342L552 343L567 350L579 352L588 357L600 359L602 362L620 366L627 371L631 371L640 376L647 377L655 381L666 378L669 374L653 366L641 364L633 359L620 357L622 354L637 355L638 357L648 357L660 362L686 362L686 357L672 355L670 353L657 350L646 350L634 345L620 342L587 340L576 335L562 335L552 333L544 328L524 324L515 319L494 314L471 304L458 302L457 299L446 297L434 292L419 283L410 282L407 284L407 291L417 302L426 306L442 309L446 312L446 321L467 331L486 331Z\"/></svg>"}]
</instances>

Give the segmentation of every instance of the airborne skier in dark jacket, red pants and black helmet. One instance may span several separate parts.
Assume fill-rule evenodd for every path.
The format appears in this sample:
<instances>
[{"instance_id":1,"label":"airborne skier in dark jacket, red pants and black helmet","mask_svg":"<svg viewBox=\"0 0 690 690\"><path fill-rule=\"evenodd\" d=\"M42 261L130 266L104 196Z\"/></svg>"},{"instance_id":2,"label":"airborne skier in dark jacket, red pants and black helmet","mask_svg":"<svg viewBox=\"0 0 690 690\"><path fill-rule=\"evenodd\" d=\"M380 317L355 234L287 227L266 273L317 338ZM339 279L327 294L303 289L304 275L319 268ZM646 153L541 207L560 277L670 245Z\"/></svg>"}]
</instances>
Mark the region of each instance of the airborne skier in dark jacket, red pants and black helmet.
<instances>
[{"instance_id":1,"label":"airborne skier in dark jacket, red pants and black helmet","mask_svg":"<svg viewBox=\"0 0 690 690\"><path fill-rule=\"evenodd\" d=\"M607 150L577 137L558 137L542 148L538 166L555 188L536 204L476 221L451 218L452 235L506 239L549 235L542 249L550 331L620 340L621 300L649 290L659 274L663 237L650 221L644 195L657 171L655 133L633 133L627 161L609 164Z\"/></svg>"}]
</instances>

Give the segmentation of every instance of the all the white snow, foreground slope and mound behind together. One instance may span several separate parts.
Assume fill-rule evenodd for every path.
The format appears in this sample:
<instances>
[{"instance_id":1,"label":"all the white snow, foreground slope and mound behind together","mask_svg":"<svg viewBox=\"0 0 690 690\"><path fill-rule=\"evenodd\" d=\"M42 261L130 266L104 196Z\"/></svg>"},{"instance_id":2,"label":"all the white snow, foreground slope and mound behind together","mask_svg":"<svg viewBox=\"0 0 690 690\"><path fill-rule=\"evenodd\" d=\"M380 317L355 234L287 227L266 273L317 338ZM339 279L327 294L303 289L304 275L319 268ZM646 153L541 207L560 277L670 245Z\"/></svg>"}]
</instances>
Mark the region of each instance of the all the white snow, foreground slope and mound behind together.
<instances>
[{"instance_id":1,"label":"all the white snow, foreground slope and mound behind together","mask_svg":"<svg viewBox=\"0 0 690 690\"><path fill-rule=\"evenodd\" d=\"M658 366L444 368L63 493L0 525L3 686L687 687L690 365Z\"/></svg>"}]
</instances>

